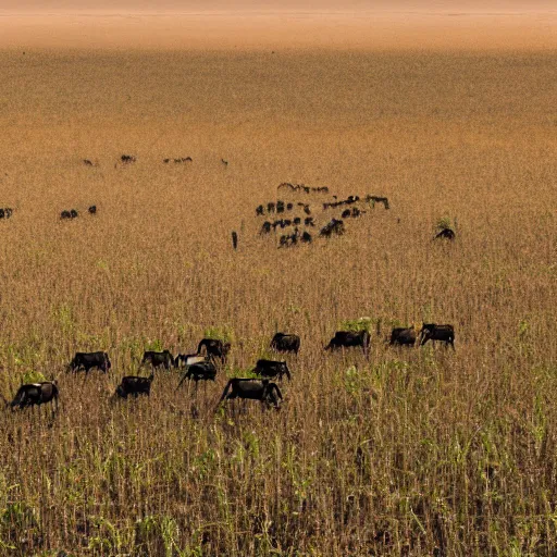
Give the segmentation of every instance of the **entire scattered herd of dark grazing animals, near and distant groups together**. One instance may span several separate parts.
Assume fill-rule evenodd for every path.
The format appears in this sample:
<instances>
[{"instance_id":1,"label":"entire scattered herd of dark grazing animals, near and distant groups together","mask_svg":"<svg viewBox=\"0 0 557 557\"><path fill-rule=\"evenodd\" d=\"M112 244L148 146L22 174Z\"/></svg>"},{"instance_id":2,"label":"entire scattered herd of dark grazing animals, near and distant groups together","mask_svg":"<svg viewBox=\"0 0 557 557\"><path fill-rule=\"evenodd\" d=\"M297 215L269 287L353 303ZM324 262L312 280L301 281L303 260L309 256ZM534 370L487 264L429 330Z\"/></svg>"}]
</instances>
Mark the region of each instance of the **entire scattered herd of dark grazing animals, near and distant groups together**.
<instances>
[{"instance_id":1,"label":"entire scattered herd of dark grazing animals, near and distant groups together","mask_svg":"<svg viewBox=\"0 0 557 557\"><path fill-rule=\"evenodd\" d=\"M137 161L133 154L122 154L117 162L121 164L132 164ZM116 162L116 166L117 166ZM191 157L166 158L163 163L170 162L191 163ZM227 166L228 162L224 159L221 162ZM90 159L83 159L86 166L98 166L98 162L92 162ZM304 184L282 183L277 187L278 191L286 194L307 194L307 195L329 195L329 187L310 187ZM326 214L326 222L320 225L319 236L322 238L331 238L333 236L342 236L346 232L345 220L359 219L367 213L368 209L373 209L376 203L383 205L384 209L389 209L389 202L386 197L367 195L360 197L358 195L350 195L346 199L338 199L337 196L332 196L333 201L321 201L313 206L307 201L292 201L277 199L261 203L256 208L256 218L265 216L271 214L288 214L288 218L281 216L274 221L267 220L260 226L259 235L269 235L277 228L285 230L292 228L292 232L282 234L278 238L278 247L290 247L298 244L310 244L312 235L308 230L302 227L312 228L317 225L315 219L319 214ZM331 215L331 210L338 209L342 211L336 216ZM87 209L91 215L97 214L97 206L89 206ZM300 211L301 214L296 214ZM0 219L9 219L12 216L13 209L0 208ZM79 215L77 209L66 209L60 213L62 220L73 220ZM440 224L437 232L433 239L448 239L456 238L455 231L446 223ZM232 232L233 249L238 248L238 233ZM455 330L450 324L435 324L423 323L419 332L413 326L410 327L395 327L391 332L391 337L386 342L391 346L414 346L418 342L419 346L425 345L428 342L442 343L445 346L450 346L455 349ZM325 350L345 350L350 348L360 348L366 357L368 357L371 337L367 330L362 331L336 331L330 342L324 346ZM292 354L297 356L300 350L300 337L292 333L277 332L271 343L270 348L276 352ZM140 360L140 366L150 366L151 373L148 377L139 375L126 375L122 377L121 383L117 385L114 397L127 398L128 396L138 397L139 395L149 396L151 386L154 380L154 371L158 369L180 369L183 375L177 383L177 388L181 387L186 380L194 381L197 391L199 381L214 382L219 371L226 363L226 358L231 350L231 343L224 342L220 338L202 338L197 350L194 354L178 354L175 357L170 350L146 350ZM76 352L74 358L67 364L69 371L77 373L84 371L84 376L87 377L89 372L94 369L100 370L104 374L109 373L112 364L109 355L106 351L95 352ZM270 360L259 359L255 368L251 370L255 376L250 377L234 377L231 379L219 399L218 408L226 400L236 398L259 400L263 406L274 407L278 409L283 400L283 395L278 385L270 380L281 382L284 376L288 381L292 380L292 372L288 363L285 360ZM24 409L27 407L40 407L41 405L52 403L53 412L54 406L58 410L59 387L55 381L45 381L40 383L29 383L21 385L11 403L7 401L12 410L15 408Z\"/></svg>"}]
</instances>

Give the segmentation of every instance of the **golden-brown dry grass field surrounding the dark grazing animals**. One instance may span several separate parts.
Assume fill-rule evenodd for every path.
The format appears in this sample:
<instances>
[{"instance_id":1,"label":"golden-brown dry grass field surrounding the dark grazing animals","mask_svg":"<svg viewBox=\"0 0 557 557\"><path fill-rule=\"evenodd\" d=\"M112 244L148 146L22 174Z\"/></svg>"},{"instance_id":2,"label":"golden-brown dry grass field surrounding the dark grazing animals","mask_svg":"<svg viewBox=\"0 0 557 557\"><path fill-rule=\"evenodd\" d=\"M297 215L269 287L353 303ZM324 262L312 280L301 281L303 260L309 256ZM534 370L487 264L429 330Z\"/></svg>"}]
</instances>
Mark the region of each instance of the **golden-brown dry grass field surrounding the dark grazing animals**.
<instances>
[{"instance_id":1,"label":"golden-brown dry grass field surrounding the dark grazing animals","mask_svg":"<svg viewBox=\"0 0 557 557\"><path fill-rule=\"evenodd\" d=\"M0 555L555 555L555 49L12 46L0 67L0 393L61 393L54 419L2 411ZM255 208L282 182L392 208L277 249ZM360 317L368 359L323 351ZM456 351L385 344L422 321ZM233 343L214 384L161 371L111 401L144 349L210 331ZM215 413L276 331L302 343L282 410ZM66 373L76 350L111 372Z\"/></svg>"}]
</instances>

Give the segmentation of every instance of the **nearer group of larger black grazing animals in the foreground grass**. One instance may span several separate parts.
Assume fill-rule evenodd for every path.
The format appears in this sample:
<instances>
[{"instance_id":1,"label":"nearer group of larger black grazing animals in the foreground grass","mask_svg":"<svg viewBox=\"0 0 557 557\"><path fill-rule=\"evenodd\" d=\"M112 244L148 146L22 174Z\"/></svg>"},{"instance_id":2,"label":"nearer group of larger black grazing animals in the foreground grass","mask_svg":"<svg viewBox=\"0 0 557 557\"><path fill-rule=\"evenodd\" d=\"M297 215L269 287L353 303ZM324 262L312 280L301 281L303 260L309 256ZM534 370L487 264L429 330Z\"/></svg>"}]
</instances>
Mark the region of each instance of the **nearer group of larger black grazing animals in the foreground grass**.
<instances>
[{"instance_id":1,"label":"nearer group of larger black grazing animals in the foreground grass","mask_svg":"<svg viewBox=\"0 0 557 557\"><path fill-rule=\"evenodd\" d=\"M435 323L423 323L418 332L411 327L396 327L391 333L389 345L395 346L414 346L419 342L423 346L428 342L441 342L455 349L455 329L453 325L438 325ZM337 350L348 348L361 348L367 355L370 346L370 334L368 331L337 331L325 350ZM276 333L270 347L277 352L289 352L297 355L300 349L300 337L296 334ZM203 338L197 347L195 354L178 354L173 357L170 350L144 352L141 366L150 366L151 374L148 377L139 375L126 375L117 385L114 397L127 398L128 396L138 397L139 395L149 396L151 384L154 379L154 370L164 368L178 368L184 370L177 388L187 381L194 381L197 389L199 381L214 381L219 371L219 364L226 362L226 357L231 350L231 344L218 338ZM76 352L72 361L67 364L67 370L74 373L84 371L86 375L92 369L98 369L108 373L112 368L109 355L104 351L96 352ZM292 373L285 360L259 359L252 369L256 377L235 377L231 379L219 399L216 407L222 403L236 398L247 400L258 400L268 407L280 409L283 395L278 385L271 380L281 381L284 376L288 381ZM259 379L258 379L259 377ZM22 385L15 394L13 400L7 406L12 410L15 408L24 409L52 403L52 412L58 411L59 387L55 380L44 381L40 383L29 383Z\"/></svg>"}]
</instances>

